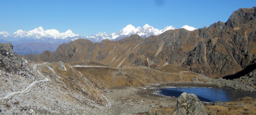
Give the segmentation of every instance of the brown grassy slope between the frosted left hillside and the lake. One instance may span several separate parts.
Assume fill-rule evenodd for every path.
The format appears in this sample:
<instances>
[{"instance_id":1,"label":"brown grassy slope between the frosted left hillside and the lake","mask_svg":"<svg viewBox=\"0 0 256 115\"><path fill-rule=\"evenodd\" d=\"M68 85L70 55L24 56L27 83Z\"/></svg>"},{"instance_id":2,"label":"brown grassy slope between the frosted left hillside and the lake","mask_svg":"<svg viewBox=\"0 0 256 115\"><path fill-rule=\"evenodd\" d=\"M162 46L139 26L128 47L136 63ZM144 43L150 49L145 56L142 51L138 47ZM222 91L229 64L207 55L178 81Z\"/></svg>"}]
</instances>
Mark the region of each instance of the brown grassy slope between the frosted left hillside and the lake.
<instances>
[{"instance_id":1,"label":"brown grassy slope between the frosted left hillside and the lake","mask_svg":"<svg viewBox=\"0 0 256 115\"><path fill-rule=\"evenodd\" d=\"M111 88L119 86L145 86L149 83L190 81L198 74L164 73L148 67L127 67L123 69L111 67L73 67L86 76L97 88Z\"/></svg>"}]
</instances>

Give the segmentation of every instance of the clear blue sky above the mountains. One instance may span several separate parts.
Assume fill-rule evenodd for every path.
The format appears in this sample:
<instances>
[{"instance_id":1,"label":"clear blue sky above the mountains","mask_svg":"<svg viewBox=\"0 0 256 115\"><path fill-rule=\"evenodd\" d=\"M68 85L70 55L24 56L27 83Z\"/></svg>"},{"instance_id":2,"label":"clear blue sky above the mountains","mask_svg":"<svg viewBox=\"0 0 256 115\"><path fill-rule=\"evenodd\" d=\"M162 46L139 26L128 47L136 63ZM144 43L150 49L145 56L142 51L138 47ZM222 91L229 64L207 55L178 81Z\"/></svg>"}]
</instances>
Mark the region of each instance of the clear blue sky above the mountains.
<instances>
[{"instance_id":1,"label":"clear blue sky above the mountains","mask_svg":"<svg viewBox=\"0 0 256 115\"><path fill-rule=\"evenodd\" d=\"M44 30L91 36L117 32L128 24L163 29L202 28L226 22L233 11L252 8L256 0L1 0L0 31Z\"/></svg>"}]
</instances>

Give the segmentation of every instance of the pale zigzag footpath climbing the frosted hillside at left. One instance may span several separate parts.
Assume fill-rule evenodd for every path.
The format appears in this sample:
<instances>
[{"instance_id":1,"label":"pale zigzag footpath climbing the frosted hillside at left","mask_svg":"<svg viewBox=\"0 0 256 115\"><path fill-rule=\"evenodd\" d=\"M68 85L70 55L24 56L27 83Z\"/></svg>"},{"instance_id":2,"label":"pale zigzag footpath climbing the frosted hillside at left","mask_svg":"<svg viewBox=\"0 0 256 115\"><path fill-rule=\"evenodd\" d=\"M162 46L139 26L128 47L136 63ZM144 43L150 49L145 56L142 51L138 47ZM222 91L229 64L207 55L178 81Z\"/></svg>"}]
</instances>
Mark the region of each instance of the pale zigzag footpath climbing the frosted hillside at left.
<instances>
[{"instance_id":1,"label":"pale zigzag footpath climbing the frosted hillside at left","mask_svg":"<svg viewBox=\"0 0 256 115\"><path fill-rule=\"evenodd\" d=\"M38 65L42 65L42 64L36 64L33 66L33 69L36 69ZM37 72L40 74L40 76L44 77L38 70ZM31 84L29 84L24 90L21 91L17 91L17 92L9 92L5 97L0 98L0 100L4 100L4 99L8 99L13 95L19 94L19 93L24 93L27 92L28 90L30 90L33 86L35 86L36 84L38 84L39 82L46 82L46 81L50 81L48 78L44 77L44 80L39 80L39 81L34 81Z\"/></svg>"}]
</instances>

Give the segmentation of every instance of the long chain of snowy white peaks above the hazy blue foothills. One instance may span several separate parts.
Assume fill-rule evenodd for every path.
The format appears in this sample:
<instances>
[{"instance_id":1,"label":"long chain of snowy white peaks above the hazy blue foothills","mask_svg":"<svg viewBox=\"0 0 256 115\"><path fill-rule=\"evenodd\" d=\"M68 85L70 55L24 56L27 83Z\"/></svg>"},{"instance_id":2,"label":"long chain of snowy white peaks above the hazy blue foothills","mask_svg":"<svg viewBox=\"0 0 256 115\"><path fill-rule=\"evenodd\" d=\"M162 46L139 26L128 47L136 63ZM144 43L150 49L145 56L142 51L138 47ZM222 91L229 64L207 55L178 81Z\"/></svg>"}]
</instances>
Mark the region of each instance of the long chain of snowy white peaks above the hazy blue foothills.
<instances>
[{"instance_id":1,"label":"long chain of snowy white peaks above the hazy blue foothills","mask_svg":"<svg viewBox=\"0 0 256 115\"><path fill-rule=\"evenodd\" d=\"M20 39L29 39L30 42L37 42L37 43L65 43L67 41L73 41L76 39L89 39L92 42L101 42L104 39L108 40L119 40L124 37L128 37L133 34L138 34L141 37L148 37L151 35L159 35L167 30L174 30L176 29L173 26L167 26L163 30L155 29L153 26L145 24L142 28L137 27L135 28L133 25L129 24L125 28L121 29L118 32L113 33L98 33L92 36L82 36L74 34L71 30L67 30L64 33L60 33L58 30L51 29L51 30L44 30L41 26L35 28L34 30L30 30L28 32L24 30L17 30L12 35L3 31L0 32L0 39L3 39L8 42L14 42L13 44L18 44ZM186 29L186 28L185 28ZM48 41L47 41L48 40ZM17 42L17 43L16 43Z\"/></svg>"}]
</instances>

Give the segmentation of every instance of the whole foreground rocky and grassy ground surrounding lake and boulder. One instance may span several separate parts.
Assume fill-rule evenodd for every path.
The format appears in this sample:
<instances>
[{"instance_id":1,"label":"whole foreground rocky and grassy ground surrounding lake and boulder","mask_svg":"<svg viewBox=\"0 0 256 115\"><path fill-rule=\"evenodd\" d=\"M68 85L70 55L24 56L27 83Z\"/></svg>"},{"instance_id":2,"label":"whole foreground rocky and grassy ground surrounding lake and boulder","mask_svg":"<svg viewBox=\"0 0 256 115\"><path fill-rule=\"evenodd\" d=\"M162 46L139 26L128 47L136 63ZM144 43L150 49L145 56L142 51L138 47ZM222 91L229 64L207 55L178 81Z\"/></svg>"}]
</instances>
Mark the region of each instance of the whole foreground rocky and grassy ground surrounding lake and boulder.
<instances>
[{"instance_id":1,"label":"whole foreground rocky and grassy ground surrounding lake and boulder","mask_svg":"<svg viewBox=\"0 0 256 115\"><path fill-rule=\"evenodd\" d=\"M159 88L222 87L224 80L172 64L158 71L143 66L112 68L93 61L34 63L14 54L11 44L1 44L0 56L0 114L172 114L179 107L177 98L158 95ZM227 81L235 86L254 73ZM255 89L245 86L245 91ZM243 98L203 105L208 114L253 114L255 102Z\"/></svg>"}]
</instances>

